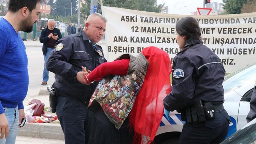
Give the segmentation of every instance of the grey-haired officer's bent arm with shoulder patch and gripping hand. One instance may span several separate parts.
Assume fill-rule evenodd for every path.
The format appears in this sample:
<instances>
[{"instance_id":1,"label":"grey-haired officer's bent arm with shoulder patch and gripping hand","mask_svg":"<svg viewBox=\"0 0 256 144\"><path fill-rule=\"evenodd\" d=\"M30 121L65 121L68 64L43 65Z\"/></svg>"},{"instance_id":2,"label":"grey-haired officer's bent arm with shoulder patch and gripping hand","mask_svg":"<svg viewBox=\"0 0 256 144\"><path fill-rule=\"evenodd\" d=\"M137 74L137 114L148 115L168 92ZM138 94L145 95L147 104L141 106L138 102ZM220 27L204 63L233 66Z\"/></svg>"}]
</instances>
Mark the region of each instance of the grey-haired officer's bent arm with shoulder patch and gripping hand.
<instances>
[{"instance_id":1,"label":"grey-haired officer's bent arm with shoulder patch and gripping hand","mask_svg":"<svg viewBox=\"0 0 256 144\"><path fill-rule=\"evenodd\" d=\"M88 72L76 71L68 61L73 55L75 43L72 38L65 37L55 44L55 49L49 55L46 69L60 76L76 77L77 81L86 84L84 75Z\"/></svg>"}]
</instances>

